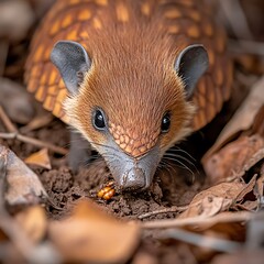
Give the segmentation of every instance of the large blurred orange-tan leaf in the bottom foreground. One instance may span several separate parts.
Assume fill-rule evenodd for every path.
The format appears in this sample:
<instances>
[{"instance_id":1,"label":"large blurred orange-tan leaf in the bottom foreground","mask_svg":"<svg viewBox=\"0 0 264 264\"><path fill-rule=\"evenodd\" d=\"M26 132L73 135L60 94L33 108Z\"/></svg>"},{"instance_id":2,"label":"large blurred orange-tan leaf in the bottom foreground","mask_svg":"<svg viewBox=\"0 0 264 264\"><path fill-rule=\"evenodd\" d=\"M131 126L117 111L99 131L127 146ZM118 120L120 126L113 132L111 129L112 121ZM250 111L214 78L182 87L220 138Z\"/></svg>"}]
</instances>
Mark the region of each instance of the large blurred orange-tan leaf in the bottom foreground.
<instances>
[{"instance_id":1,"label":"large blurred orange-tan leaf in the bottom foreground","mask_svg":"<svg viewBox=\"0 0 264 264\"><path fill-rule=\"evenodd\" d=\"M125 263L140 242L135 222L122 222L90 201L77 205L73 216L52 221L51 240L67 262Z\"/></svg>"}]
</instances>

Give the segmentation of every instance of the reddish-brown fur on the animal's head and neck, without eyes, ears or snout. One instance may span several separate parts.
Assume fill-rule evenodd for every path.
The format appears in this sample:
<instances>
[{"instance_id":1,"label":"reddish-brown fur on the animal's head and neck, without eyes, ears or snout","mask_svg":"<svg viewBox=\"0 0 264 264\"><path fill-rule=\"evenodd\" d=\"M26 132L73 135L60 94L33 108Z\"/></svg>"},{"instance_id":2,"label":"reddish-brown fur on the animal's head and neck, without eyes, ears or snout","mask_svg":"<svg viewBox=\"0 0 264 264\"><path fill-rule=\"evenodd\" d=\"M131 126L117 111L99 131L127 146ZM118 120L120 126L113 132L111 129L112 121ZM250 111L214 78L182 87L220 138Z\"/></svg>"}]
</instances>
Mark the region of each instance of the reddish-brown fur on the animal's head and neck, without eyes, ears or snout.
<instances>
[{"instance_id":1,"label":"reddish-brown fur on the animal's head and neck, without eyes, ears or snout","mask_svg":"<svg viewBox=\"0 0 264 264\"><path fill-rule=\"evenodd\" d=\"M124 135L144 135L142 144L147 144L147 139L156 134L154 140L160 139L165 151L188 133L187 124L194 113L174 69L179 51L175 40L158 29L158 20L141 25L142 21L131 15L129 24L108 21L108 26L88 31L90 37L85 44L92 69L80 94L68 99L65 108L91 142L107 144L103 133L97 132L91 123L91 112L97 106L103 109L109 123L123 129ZM172 128L166 134L156 133L166 111L172 112Z\"/></svg>"}]
</instances>

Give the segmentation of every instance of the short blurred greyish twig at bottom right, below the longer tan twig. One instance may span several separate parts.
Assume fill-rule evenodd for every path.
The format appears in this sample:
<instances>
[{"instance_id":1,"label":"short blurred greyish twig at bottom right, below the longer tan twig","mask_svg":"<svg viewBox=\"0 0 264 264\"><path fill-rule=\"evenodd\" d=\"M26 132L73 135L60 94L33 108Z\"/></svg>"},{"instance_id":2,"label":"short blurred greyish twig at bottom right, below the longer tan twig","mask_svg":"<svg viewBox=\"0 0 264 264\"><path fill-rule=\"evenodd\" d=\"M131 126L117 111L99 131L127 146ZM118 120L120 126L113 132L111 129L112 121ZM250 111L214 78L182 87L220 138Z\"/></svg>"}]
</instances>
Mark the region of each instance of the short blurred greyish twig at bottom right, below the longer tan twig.
<instances>
[{"instance_id":1,"label":"short blurred greyish twig at bottom right, below the longer tan twig","mask_svg":"<svg viewBox=\"0 0 264 264\"><path fill-rule=\"evenodd\" d=\"M162 239L176 239L197 246L205 246L224 253L234 253L242 249L242 243L208 235L193 233L182 229L172 229L162 233Z\"/></svg>"}]
</instances>

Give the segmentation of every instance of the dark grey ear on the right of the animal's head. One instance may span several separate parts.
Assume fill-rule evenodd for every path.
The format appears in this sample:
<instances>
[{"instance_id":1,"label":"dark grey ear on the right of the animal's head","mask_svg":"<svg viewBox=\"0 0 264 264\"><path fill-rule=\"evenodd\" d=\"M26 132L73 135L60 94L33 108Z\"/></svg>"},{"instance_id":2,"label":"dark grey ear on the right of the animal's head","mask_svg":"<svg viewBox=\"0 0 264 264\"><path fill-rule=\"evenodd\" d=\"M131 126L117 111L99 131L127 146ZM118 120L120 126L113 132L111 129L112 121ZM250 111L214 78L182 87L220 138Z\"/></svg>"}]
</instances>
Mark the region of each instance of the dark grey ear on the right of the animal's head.
<instances>
[{"instance_id":1,"label":"dark grey ear on the right of the animal's head","mask_svg":"<svg viewBox=\"0 0 264 264\"><path fill-rule=\"evenodd\" d=\"M209 65L209 58L206 48L202 45L195 44L184 48L178 55L175 69L182 77L187 98L190 98L199 78L205 74Z\"/></svg>"}]
</instances>

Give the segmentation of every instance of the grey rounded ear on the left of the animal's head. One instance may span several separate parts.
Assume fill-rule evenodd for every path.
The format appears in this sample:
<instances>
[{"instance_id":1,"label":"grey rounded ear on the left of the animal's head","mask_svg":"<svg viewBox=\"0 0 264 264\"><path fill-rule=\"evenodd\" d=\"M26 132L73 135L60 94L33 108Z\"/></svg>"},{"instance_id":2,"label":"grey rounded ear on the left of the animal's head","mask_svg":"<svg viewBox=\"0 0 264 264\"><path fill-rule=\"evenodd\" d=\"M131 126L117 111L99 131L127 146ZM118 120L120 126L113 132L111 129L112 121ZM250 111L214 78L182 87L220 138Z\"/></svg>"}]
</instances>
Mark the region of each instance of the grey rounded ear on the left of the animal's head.
<instances>
[{"instance_id":1,"label":"grey rounded ear on the left of the animal's head","mask_svg":"<svg viewBox=\"0 0 264 264\"><path fill-rule=\"evenodd\" d=\"M77 94L85 73L91 66L86 50L77 42L59 41L53 47L51 59L58 68L68 91Z\"/></svg>"}]
</instances>

